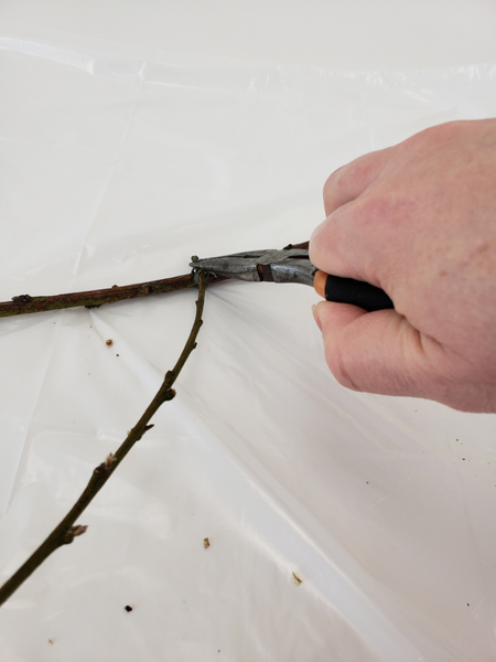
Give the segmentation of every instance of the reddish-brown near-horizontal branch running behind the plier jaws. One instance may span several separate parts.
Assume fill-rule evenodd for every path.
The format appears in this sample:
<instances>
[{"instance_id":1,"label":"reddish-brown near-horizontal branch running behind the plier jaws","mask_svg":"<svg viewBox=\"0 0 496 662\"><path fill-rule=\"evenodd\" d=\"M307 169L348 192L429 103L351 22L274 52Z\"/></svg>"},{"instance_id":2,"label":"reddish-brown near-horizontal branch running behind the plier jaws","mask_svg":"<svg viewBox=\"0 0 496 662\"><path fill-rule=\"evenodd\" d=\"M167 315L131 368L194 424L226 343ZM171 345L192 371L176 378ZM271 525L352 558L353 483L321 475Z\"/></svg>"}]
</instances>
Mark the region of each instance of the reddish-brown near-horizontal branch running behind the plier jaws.
<instances>
[{"instance_id":1,"label":"reddish-brown near-horizontal branch running behind the plier jaws","mask_svg":"<svg viewBox=\"0 0 496 662\"><path fill-rule=\"evenodd\" d=\"M289 248L308 248L309 243L290 244L284 246ZM227 280L222 276L212 278L211 284ZM150 297L152 295L163 295L182 289L195 287L192 274L184 276L174 276L173 278L162 278L160 280L150 280L147 282L137 282L134 285L123 285L85 292L72 292L67 295L51 295L47 297L31 297L30 295L20 295L13 297L12 301L0 302L0 317L11 317L14 314L26 314L30 312L42 312L45 310L62 310L64 308L75 308L85 306L86 308L97 308L104 303L115 303L116 301L126 301L127 299L137 299L140 297Z\"/></svg>"}]
</instances>

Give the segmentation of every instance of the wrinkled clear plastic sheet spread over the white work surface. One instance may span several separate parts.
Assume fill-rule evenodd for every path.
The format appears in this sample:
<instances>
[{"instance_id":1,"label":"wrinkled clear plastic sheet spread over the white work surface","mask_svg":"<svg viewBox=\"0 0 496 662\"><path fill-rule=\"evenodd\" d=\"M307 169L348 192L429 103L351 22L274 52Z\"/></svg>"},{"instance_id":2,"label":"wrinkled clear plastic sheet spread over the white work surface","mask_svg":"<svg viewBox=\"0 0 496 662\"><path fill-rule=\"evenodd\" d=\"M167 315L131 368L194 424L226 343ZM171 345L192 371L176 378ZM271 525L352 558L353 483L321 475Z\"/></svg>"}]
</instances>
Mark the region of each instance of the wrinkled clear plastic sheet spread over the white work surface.
<instances>
[{"instance_id":1,"label":"wrinkled clear plastic sheet spread over the white work surface","mask_svg":"<svg viewBox=\"0 0 496 662\"><path fill-rule=\"evenodd\" d=\"M490 65L0 47L2 300L305 241L335 168L496 114ZM2 581L138 420L195 297L0 320ZM315 301L299 285L207 291L177 397L80 517L87 532L0 609L2 661L496 656L494 417L343 389Z\"/></svg>"}]
</instances>

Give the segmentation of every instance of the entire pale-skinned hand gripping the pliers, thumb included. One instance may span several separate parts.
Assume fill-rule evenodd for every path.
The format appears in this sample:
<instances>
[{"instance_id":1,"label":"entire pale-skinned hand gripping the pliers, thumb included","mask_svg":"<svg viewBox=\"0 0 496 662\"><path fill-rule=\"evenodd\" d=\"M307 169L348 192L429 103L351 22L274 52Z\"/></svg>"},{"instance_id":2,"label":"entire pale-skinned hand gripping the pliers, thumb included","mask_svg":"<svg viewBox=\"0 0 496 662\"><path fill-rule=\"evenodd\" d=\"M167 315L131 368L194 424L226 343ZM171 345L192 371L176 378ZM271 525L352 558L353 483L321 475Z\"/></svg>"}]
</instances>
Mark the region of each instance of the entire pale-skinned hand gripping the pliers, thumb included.
<instances>
[{"instance_id":1,"label":"entire pale-skinned hand gripping the pliers, thumb included","mask_svg":"<svg viewBox=\"0 0 496 662\"><path fill-rule=\"evenodd\" d=\"M355 391L496 412L496 119L432 127L336 170L310 258L382 288L393 310L314 308Z\"/></svg>"}]
</instances>

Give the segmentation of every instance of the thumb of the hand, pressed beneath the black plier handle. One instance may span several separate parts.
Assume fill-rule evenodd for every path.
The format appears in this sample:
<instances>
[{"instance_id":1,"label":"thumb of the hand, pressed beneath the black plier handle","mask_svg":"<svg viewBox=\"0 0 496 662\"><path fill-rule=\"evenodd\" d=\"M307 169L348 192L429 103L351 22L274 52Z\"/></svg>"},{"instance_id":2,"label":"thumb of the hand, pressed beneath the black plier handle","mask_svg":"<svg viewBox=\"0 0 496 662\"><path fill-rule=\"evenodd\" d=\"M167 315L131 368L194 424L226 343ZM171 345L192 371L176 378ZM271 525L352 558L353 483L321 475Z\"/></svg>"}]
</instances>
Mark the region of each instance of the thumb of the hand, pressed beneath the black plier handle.
<instances>
[{"instance_id":1,"label":"thumb of the hand, pressed beneath the black plier handle","mask_svg":"<svg viewBox=\"0 0 496 662\"><path fill-rule=\"evenodd\" d=\"M366 312L321 301L313 314L337 382L354 391L438 399L443 350L396 310ZM439 373L438 373L439 374Z\"/></svg>"}]
</instances>

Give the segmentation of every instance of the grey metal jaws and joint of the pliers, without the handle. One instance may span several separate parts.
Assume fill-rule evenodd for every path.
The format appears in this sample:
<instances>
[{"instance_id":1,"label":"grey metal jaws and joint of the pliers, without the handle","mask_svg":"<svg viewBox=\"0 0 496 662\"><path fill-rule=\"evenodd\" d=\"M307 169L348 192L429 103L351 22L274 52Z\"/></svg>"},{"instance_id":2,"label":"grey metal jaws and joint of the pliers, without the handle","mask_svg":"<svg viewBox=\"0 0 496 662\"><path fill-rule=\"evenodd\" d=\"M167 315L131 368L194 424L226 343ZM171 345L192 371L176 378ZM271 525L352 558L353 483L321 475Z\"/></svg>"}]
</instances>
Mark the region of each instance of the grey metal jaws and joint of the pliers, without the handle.
<instances>
[{"instance_id":1,"label":"grey metal jaws and joint of the pliers, without the handle","mask_svg":"<svg viewBox=\"0 0 496 662\"><path fill-rule=\"evenodd\" d=\"M316 268L308 249L249 250L190 263L194 269L254 282L301 282L313 286Z\"/></svg>"}]
</instances>

